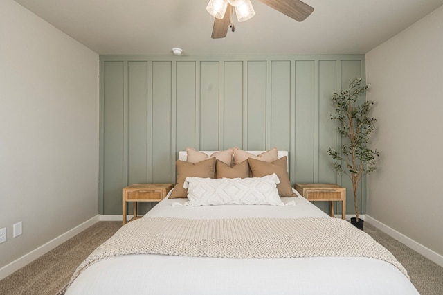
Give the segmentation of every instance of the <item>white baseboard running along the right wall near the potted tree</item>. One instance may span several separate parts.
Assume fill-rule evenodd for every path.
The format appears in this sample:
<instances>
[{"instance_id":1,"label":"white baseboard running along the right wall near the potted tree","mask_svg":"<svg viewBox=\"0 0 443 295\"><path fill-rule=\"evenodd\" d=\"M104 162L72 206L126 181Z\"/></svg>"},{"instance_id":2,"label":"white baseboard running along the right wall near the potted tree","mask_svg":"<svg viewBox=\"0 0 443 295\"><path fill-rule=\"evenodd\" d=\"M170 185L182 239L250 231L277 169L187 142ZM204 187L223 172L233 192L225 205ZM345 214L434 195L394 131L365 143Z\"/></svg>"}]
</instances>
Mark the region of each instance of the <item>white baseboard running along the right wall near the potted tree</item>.
<instances>
[{"instance_id":1,"label":"white baseboard running along the right wall near the potted tree","mask_svg":"<svg viewBox=\"0 0 443 295\"><path fill-rule=\"evenodd\" d=\"M415 240L408 238L403 233L399 233L395 229L392 229L391 227L387 226L386 224L383 224L382 222L379 222L379 220L376 220L373 217L370 217L369 215L366 215L366 221L373 226L377 227L380 231L383 231L384 233L387 233L392 238L395 238L395 240L398 240L399 242L405 244L410 249L413 249L417 253L422 254L422 256L428 258L432 262L435 262L437 265L440 265L440 267L443 267L443 256L439 253L428 249L427 247L423 246L422 244L415 242Z\"/></svg>"}]
</instances>

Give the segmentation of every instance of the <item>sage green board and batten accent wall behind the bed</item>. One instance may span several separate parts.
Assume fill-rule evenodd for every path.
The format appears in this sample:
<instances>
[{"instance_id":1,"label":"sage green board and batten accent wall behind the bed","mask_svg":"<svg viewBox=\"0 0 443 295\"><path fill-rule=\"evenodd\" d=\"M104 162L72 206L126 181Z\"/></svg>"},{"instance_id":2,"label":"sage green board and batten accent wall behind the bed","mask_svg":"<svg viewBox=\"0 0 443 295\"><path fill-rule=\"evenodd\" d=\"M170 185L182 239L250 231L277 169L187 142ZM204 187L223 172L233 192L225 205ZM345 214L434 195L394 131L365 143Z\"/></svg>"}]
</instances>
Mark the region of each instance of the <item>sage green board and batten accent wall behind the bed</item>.
<instances>
[{"instance_id":1,"label":"sage green board and batten accent wall behind the bed","mask_svg":"<svg viewBox=\"0 0 443 295\"><path fill-rule=\"evenodd\" d=\"M354 77L364 55L101 55L100 214L122 213L129 184L174 183L179 150L235 146L288 150L292 184L341 184L353 214L327 148L341 145L332 95Z\"/></svg>"}]
</instances>

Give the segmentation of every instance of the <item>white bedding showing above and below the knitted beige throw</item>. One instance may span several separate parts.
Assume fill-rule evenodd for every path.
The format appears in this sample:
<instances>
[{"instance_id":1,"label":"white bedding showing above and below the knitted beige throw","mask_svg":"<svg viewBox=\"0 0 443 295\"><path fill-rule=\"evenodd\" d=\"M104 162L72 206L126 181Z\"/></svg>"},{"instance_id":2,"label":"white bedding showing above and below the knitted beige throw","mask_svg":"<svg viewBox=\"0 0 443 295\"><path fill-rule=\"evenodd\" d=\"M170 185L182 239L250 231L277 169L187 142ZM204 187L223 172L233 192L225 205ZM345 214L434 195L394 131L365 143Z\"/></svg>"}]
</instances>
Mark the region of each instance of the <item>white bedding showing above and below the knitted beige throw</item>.
<instances>
[{"instance_id":1,"label":"white bedding showing above and below the knitted beige throw","mask_svg":"<svg viewBox=\"0 0 443 295\"><path fill-rule=\"evenodd\" d=\"M303 197L292 206L180 206L164 199L149 216L195 219L327 217ZM175 206L173 206L174 204ZM372 258L229 259L127 255L91 265L66 291L73 294L418 294L388 262Z\"/></svg>"}]
</instances>

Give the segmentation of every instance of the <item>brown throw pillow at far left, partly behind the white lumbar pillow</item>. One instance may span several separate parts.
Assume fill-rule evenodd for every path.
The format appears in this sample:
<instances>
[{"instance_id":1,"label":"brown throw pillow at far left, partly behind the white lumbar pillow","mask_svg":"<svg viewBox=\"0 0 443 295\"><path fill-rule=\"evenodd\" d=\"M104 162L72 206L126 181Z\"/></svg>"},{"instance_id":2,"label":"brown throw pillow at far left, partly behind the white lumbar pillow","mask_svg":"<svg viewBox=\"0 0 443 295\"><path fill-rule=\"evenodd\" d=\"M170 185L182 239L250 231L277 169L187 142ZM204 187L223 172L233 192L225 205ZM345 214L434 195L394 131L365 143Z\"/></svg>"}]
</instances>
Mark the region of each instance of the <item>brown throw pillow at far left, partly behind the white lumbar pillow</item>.
<instances>
[{"instance_id":1,"label":"brown throw pillow at far left, partly behind the white lumbar pillow","mask_svg":"<svg viewBox=\"0 0 443 295\"><path fill-rule=\"evenodd\" d=\"M177 184L170 195L170 199L188 197L188 190L183 188L186 177L214 178L215 176L215 158L209 158L199 163L189 163L177 160Z\"/></svg>"}]
</instances>

